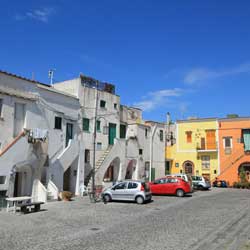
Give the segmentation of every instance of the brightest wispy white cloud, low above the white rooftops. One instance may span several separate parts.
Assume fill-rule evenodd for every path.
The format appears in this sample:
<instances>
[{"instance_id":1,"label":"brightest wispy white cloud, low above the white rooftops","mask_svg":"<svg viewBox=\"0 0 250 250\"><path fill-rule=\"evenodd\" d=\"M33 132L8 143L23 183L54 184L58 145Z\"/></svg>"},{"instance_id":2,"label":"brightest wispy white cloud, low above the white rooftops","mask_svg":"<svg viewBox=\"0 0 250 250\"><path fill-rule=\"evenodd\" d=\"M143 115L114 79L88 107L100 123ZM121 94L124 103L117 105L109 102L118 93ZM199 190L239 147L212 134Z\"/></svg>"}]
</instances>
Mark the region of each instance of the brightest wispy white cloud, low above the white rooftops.
<instances>
[{"instance_id":1,"label":"brightest wispy white cloud, low above the white rooftops","mask_svg":"<svg viewBox=\"0 0 250 250\"><path fill-rule=\"evenodd\" d=\"M183 90L179 88L149 92L142 101L135 102L133 106L141 108L143 111L152 111L165 106L173 97L179 97L182 94Z\"/></svg>"}]
</instances>

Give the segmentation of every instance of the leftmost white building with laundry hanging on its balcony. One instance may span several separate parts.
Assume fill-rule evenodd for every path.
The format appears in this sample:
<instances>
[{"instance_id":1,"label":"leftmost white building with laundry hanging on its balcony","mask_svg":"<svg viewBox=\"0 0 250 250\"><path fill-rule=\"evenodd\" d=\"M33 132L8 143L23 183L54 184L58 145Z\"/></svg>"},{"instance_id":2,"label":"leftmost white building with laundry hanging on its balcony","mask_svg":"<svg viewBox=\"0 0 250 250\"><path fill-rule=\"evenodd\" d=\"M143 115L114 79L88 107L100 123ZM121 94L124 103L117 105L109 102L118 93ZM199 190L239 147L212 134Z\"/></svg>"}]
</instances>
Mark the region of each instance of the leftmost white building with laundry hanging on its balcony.
<instances>
[{"instance_id":1,"label":"leftmost white building with laundry hanging on its balcony","mask_svg":"<svg viewBox=\"0 0 250 250\"><path fill-rule=\"evenodd\" d=\"M79 100L0 71L0 192L46 201L83 183Z\"/></svg>"}]
</instances>

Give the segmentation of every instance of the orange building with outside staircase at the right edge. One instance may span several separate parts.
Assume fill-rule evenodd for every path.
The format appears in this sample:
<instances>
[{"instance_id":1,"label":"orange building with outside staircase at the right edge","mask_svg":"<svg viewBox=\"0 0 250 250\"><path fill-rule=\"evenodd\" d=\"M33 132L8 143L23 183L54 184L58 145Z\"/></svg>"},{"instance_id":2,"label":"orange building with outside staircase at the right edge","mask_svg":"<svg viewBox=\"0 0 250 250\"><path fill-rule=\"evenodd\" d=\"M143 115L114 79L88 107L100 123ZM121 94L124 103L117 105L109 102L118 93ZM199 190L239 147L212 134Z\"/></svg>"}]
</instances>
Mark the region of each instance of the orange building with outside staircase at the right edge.
<instances>
[{"instance_id":1,"label":"orange building with outside staircase at the right edge","mask_svg":"<svg viewBox=\"0 0 250 250\"><path fill-rule=\"evenodd\" d=\"M218 125L218 178L232 185L239 181L239 171L242 168L250 181L250 117L219 119Z\"/></svg>"}]
</instances>

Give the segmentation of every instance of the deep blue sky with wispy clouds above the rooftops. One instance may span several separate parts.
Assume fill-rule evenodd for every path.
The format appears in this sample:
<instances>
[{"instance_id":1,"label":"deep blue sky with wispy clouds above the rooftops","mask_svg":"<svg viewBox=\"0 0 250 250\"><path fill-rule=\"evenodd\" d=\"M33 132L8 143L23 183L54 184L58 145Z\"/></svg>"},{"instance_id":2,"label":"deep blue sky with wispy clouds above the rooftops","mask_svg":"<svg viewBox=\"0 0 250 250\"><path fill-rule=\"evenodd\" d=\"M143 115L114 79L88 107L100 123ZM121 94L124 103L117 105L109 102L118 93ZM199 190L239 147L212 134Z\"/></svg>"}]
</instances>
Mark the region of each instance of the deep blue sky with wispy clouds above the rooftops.
<instances>
[{"instance_id":1,"label":"deep blue sky with wispy clouds above the rooftops","mask_svg":"<svg viewBox=\"0 0 250 250\"><path fill-rule=\"evenodd\" d=\"M144 118L250 115L250 1L1 0L0 69L114 83Z\"/></svg>"}]
</instances>

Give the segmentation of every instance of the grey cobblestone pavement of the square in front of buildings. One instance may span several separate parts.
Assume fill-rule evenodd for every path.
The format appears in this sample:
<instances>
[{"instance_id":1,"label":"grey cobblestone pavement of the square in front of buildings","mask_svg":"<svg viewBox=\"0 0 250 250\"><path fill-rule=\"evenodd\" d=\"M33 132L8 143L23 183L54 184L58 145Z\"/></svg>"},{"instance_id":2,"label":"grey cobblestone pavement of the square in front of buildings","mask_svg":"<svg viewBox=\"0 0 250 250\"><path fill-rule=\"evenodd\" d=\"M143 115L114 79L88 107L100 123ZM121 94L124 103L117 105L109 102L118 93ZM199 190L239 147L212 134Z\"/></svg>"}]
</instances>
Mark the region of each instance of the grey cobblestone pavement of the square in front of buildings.
<instances>
[{"instance_id":1,"label":"grey cobblestone pavement of the square in front of buildings","mask_svg":"<svg viewBox=\"0 0 250 250\"><path fill-rule=\"evenodd\" d=\"M249 250L250 190L155 196L145 205L50 202L44 211L0 212L0 250Z\"/></svg>"}]
</instances>

